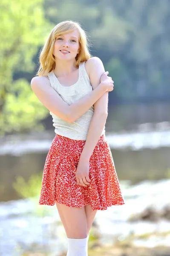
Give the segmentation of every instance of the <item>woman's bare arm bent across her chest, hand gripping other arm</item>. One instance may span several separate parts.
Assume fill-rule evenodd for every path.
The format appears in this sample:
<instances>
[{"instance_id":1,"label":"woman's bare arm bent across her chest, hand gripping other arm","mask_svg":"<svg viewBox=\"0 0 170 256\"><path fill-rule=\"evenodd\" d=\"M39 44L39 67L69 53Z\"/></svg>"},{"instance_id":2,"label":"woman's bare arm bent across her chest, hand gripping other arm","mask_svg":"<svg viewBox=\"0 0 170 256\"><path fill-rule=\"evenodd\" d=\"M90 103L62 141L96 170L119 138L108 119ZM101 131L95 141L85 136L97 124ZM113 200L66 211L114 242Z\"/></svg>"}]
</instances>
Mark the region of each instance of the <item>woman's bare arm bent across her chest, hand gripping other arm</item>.
<instances>
[{"instance_id":1,"label":"woman's bare arm bent across her chest, hand gripping other arm","mask_svg":"<svg viewBox=\"0 0 170 256\"><path fill-rule=\"evenodd\" d=\"M107 76L108 72L103 75ZM102 76L103 76L102 75ZM40 102L56 116L66 122L74 122L82 116L89 108L107 91L113 90L111 79L105 79L107 82L102 82L91 93L68 105L59 94L51 87L50 81L46 76L36 76L31 81L31 87Z\"/></svg>"}]
</instances>

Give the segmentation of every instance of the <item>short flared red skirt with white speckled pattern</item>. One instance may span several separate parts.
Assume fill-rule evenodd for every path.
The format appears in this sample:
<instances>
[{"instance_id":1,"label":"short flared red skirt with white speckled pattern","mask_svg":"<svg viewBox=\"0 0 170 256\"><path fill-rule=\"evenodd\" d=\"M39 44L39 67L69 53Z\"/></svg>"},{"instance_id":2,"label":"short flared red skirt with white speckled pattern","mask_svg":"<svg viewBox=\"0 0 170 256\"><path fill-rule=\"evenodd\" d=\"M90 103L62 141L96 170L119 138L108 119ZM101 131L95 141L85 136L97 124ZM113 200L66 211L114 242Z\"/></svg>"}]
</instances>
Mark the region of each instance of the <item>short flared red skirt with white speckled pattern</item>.
<instances>
[{"instance_id":1,"label":"short flared red skirt with white speckled pattern","mask_svg":"<svg viewBox=\"0 0 170 256\"><path fill-rule=\"evenodd\" d=\"M72 140L56 134L46 157L39 204L105 210L124 204L115 165L105 134L100 137L89 160L87 187L76 181L76 168L85 140Z\"/></svg>"}]
</instances>

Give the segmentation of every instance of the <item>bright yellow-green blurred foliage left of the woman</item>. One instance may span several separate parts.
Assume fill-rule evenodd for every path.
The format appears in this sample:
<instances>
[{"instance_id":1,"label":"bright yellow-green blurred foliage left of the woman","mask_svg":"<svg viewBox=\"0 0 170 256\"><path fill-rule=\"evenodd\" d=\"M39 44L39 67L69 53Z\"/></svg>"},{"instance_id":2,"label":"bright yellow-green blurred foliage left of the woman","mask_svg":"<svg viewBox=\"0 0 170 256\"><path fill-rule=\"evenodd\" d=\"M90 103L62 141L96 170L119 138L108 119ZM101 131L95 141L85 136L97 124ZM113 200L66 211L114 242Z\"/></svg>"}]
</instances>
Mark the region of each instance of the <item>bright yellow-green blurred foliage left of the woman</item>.
<instances>
[{"instance_id":1,"label":"bright yellow-green blurred foliage left of the woman","mask_svg":"<svg viewBox=\"0 0 170 256\"><path fill-rule=\"evenodd\" d=\"M37 122L48 111L33 95L23 72L34 72L32 58L49 32L43 1L2 0L0 9L0 131L39 129ZM14 80L17 72L23 79Z\"/></svg>"}]
</instances>

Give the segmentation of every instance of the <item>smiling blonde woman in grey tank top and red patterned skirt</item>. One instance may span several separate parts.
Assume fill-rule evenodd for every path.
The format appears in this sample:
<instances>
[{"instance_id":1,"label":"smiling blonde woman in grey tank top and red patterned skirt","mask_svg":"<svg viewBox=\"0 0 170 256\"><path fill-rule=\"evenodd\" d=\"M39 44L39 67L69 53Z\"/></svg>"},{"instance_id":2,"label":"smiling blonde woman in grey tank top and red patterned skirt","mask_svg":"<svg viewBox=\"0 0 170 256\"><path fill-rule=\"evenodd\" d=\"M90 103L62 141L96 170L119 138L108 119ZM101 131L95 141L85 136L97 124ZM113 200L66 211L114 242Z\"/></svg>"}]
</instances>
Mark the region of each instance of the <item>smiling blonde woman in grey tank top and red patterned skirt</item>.
<instances>
[{"instance_id":1,"label":"smiling blonde woman in grey tank top and red patterned skirt","mask_svg":"<svg viewBox=\"0 0 170 256\"><path fill-rule=\"evenodd\" d=\"M88 50L78 22L58 23L40 53L31 81L49 109L55 138L46 157L39 204L56 204L68 239L67 256L87 256L97 210L124 204L105 137L113 81Z\"/></svg>"}]
</instances>

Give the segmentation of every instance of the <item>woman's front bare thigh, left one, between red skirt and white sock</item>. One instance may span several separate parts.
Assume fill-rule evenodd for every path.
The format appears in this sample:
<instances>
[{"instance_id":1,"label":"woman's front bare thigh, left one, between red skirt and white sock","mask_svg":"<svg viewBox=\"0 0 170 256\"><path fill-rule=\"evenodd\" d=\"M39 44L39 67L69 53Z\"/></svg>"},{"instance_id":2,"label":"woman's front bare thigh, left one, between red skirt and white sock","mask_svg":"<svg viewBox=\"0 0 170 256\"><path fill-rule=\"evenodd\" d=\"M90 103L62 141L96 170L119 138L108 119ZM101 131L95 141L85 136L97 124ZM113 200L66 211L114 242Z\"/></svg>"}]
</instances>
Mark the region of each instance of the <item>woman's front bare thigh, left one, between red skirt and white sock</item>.
<instances>
[{"instance_id":1,"label":"woman's front bare thigh, left one, between red skirt and white sock","mask_svg":"<svg viewBox=\"0 0 170 256\"><path fill-rule=\"evenodd\" d=\"M86 212L83 208L68 207L55 201L68 238L83 239L87 233Z\"/></svg>"}]
</instances>

